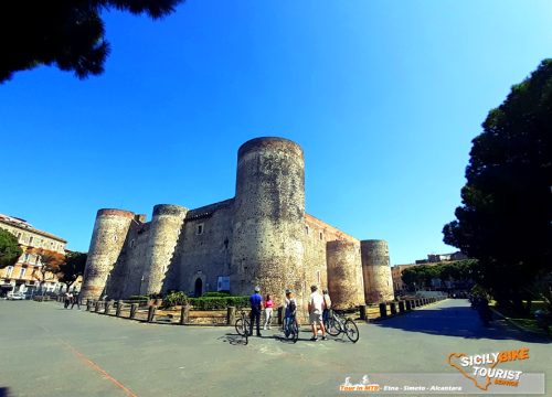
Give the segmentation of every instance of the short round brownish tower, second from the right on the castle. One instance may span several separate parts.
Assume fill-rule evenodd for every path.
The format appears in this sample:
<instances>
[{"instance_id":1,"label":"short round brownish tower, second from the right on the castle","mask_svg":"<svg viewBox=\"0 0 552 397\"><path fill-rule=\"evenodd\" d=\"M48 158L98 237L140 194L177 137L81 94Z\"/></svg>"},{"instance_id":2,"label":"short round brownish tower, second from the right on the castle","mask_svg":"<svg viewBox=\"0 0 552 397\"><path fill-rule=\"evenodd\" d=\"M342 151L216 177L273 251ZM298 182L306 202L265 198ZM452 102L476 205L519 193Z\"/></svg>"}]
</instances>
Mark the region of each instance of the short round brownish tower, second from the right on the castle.
<instances>
[{"instance_id":1,"label":"short round brownish tower, second from the right on the castle","mask_svg":"<svg viewBox=\"0 0 552 397\"><path fill-rule=\"evenodd\" d=\"M332 308L349 309L364 304L360 245L348 240L328 242L326 261Z\"/></svg>"}]
</instances>

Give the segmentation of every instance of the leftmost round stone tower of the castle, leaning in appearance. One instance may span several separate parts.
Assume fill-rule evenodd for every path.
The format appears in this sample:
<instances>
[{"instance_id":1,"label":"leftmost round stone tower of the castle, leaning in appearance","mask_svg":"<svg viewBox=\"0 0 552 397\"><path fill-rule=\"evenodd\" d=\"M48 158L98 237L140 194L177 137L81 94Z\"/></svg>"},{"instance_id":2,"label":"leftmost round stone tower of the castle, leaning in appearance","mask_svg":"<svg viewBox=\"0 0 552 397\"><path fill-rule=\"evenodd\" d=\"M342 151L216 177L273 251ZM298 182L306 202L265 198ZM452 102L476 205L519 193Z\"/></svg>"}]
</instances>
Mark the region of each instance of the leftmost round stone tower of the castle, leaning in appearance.
<instances>
[{"instance_id":1,"label":"leftmost round stone tower of the castle, leaning in appearance","mask_svg":"<svg viewBox=\"0 0 552 397\"><path fill-rule=\"evenodd\" d=\"M81 297L99 299L119 257L135 214L123 210L99 210L86 258Z\"/></svg>"}]
</instances>

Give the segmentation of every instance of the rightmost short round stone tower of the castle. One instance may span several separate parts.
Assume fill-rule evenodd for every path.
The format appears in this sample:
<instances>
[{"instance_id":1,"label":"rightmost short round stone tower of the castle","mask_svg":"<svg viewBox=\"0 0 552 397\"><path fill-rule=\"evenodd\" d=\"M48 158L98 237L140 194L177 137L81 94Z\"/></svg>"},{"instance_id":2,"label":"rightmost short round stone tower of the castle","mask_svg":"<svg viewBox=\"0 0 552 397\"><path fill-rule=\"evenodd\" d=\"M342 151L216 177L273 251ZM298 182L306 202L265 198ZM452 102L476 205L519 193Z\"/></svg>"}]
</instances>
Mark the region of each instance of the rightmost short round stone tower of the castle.
<instances>
[{"instance_id":1,"label":"rightmost short round stone tower of the castle","mask_svg":"<svg viewBox=\"0 0 552 397\"><path fill-rule=\"evenodd\" d=\"M360 242L367 303L393 300L393 278L385 240Z\"/></svg>"}]
</instances>

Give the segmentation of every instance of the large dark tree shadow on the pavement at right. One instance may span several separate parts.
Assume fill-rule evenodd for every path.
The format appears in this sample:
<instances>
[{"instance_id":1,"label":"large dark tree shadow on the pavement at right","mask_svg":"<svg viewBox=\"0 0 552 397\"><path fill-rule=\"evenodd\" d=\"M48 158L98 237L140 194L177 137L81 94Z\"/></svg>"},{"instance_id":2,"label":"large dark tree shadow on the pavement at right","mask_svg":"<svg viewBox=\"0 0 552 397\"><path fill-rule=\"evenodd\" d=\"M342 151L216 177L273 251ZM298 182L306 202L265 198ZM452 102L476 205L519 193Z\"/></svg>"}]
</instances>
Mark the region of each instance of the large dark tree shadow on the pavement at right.
<instances>
[{"instance_id":1,"label":"large dark tree shadow on the pavement at right","mask_svg":"<svg viewBox=\"0 0 552 397\"><path fill-rule=\"evenodd\" d=\"M375 324L386 329L434 335L550 343L549 339L518 330L497 318L489 326L484 326L477 311L471 309L467 301L448 302L448 305L434 309L414 310Z\"/></svg>"}]
</instances>

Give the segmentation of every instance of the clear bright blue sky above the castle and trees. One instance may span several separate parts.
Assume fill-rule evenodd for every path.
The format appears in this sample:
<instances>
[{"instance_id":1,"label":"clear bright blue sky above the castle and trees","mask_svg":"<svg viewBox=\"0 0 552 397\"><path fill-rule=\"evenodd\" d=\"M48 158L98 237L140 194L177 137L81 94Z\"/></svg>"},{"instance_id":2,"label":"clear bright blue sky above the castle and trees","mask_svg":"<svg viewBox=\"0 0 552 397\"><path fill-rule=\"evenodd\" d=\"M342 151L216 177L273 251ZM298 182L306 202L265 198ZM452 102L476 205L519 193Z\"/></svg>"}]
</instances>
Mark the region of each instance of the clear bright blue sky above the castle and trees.
<instances>
[{"instance_id":1,"label":"clear bright blue sky above the castle and trees","mask_svg":"<svg viewBox=\"0 0 552 397\"><path fill-rule=\"evenodd\" d=\"M112 55L0 86L0 213L87 250L96 211L234 195L240 144L298 142L307 212L392 264L455 248L471 139L551 56L549 1L188 0L105 14Z\"/></svg>"}]
</instances>

